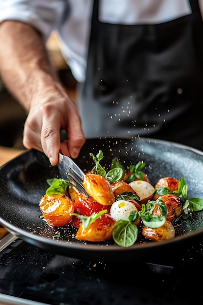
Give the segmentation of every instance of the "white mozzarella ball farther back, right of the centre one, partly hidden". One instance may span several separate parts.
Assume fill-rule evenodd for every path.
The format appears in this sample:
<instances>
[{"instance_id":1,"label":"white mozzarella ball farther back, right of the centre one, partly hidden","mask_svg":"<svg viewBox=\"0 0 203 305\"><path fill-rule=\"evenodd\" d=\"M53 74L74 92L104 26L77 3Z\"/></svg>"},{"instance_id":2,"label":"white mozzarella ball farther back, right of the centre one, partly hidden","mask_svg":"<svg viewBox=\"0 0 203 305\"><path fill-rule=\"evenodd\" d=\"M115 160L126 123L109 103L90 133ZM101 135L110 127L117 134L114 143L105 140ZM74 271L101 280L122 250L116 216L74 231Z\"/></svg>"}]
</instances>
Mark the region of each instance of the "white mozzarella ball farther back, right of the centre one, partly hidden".
<instances>
[{"instance_id":1,"label":"white mozzarella ball farther back, right of the centre one, partly hidden","mask_svg":"<svg viewBox=\"0 0 203 305\"><path fill-rule=\"evenodd\" d=\"M135 180L130 182L129 185L140 197L140 201L150 196L153 196L155 192L154 187L150 183L144 180Z\"/></svg>"}]
</instances>

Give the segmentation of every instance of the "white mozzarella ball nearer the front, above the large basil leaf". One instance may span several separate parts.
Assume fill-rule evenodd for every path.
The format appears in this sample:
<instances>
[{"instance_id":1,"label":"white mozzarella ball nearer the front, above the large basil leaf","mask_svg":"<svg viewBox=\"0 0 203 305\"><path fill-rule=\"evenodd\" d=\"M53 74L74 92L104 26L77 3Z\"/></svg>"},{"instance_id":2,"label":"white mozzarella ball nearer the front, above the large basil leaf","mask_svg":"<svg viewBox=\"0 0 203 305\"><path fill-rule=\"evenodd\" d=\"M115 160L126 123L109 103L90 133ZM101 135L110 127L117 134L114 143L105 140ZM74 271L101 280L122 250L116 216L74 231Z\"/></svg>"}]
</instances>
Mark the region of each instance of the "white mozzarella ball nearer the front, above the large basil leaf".
<instances>
[{"instance_id":1,"label":"white mozzarella ball nearer the front, above the large basil leaf","mask_svg":"<svg viewBox=\"0 0 203 305\"><path fill-rule=\"evenodd\" d=\"M110 209L110 215L115 220L128 220L131 211L137 211L135 205L127 200L115 201Z\"/></svg>"}]
</instances>

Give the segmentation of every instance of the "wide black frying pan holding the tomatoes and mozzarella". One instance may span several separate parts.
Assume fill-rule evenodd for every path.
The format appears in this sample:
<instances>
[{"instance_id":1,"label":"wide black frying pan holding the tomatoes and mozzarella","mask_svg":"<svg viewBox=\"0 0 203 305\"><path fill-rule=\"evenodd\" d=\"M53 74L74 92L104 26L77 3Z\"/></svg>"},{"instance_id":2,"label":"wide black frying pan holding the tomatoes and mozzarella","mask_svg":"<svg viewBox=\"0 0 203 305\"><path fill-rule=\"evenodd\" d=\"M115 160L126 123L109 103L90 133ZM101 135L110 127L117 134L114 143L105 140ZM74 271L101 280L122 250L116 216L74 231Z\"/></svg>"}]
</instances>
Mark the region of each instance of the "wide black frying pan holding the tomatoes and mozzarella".
<instances>
[{"instance_id":1,"label":"wide black frying pan holding the tomatoes and mozzarella","mask_svg":"<svg viewBox=\"0 0 203 305\"><path fill-rule=\"evenodd\" d=\"M146 162L145 172L152 185L160 177L185 178L188 198L203 198L203 152L171 142L155 139L87 139L75 162L82 170L91 170L92 157L102 150L100 162L109 166L114 156L129 166ZM142 236L130 248L122 248L112 241L105 243L80 242L73 238L70 226L51 228L40 218L38 202L48 185L47 178L58 176L48 158L36 150L28 151L0 168L0 224L22 240L58 254L99 261L122 262L139 258L165 255L174 247L184 245L203 234L203 211L176 227L175 238L163 242L146 241ZM63 240L53 238L59 231Z\"/></svg>"}]
</instances>

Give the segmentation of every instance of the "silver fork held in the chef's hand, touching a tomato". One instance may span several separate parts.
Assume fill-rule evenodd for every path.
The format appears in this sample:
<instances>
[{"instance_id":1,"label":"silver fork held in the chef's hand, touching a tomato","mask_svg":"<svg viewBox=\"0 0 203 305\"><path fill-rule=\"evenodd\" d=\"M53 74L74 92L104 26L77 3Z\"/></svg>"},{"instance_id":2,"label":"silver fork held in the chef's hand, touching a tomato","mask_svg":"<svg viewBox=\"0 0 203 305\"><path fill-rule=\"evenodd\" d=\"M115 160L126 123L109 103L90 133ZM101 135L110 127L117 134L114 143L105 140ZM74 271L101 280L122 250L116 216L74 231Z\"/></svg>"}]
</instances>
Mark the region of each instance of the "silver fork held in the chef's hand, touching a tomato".
<instances>
[{"instance_id":1,"label":"silver fork held in the chef's hand, touching a tomato","mask_svg":"<svg viewBox=\"0 0 203 305\"><path fill-rule=\"evenodd\" d=\"M59 151L58 170L62 179L68 181L76 190L90 197L83 186L85 173L74 163L74 161Z\"/></svg>"}]
</instances>

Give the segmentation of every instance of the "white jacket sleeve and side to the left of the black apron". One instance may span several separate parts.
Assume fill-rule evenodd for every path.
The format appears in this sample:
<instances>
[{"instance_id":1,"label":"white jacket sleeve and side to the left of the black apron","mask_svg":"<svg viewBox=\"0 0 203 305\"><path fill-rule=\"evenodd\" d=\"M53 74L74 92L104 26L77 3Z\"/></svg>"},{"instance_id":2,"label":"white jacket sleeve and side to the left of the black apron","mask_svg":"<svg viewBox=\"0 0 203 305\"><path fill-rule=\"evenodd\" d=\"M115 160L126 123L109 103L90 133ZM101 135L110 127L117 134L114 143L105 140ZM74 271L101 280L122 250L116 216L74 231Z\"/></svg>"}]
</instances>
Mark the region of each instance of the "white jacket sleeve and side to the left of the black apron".
<instances>
[{"instance_id":1,"label":"white jacket sleeve and side to the left of the black apron","mask_svg":"<svg viewBox=\"0 0 203 305\"><path fill-rule=\"evenodd\" d=\"M18 20L31 24L42 33L44 41L56 31L74 77L84 81L92 3L92 0L0 0L0 22Z\"/></svg>"}]
</instances>

